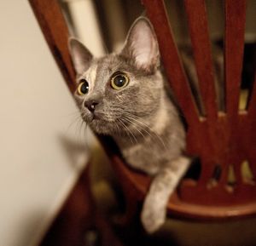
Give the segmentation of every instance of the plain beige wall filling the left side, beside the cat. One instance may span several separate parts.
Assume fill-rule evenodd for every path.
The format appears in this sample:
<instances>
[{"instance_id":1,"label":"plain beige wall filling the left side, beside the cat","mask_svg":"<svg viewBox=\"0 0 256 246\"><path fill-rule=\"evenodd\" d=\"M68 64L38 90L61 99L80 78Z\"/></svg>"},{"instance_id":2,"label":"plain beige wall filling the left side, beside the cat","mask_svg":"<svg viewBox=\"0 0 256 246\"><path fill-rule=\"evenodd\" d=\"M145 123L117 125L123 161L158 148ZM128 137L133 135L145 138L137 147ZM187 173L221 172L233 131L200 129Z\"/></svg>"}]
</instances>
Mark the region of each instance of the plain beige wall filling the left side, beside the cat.
<instances>
[{"instance_id":1,"label":"plain beige wall filling the left side, beside the cat","mask_svg":"<svg viewBox=\"0 0 256 246\"><path fill-rule=\"evenodd\" d=\"M79 172L60 139L84 131L28 1L0 1L0 30L0 245L35 245Z\"/></svg>"}]
</instances>

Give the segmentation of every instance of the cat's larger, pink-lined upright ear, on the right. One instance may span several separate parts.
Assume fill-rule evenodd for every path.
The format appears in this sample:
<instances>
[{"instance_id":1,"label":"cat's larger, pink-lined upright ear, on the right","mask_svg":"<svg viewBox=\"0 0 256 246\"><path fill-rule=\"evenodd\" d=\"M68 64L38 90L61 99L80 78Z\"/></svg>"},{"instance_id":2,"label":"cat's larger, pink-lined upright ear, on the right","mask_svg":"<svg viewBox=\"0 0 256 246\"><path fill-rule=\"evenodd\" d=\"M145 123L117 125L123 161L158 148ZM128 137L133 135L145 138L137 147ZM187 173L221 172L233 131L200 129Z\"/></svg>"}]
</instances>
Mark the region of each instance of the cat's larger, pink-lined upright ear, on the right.
<instances>
[{"instance_id":1,"label":"cat's larger, pink-lined upright ear, on the right","mask_svg":"<svg viewBox=\"0 0 256 246\"><path fill-rule=\"evenodd\" d=\"M121 55L134 61L138 68L154 71L160 64L160 54L153 27L148 19L138 18L126 37Z\"/></svg>"}]
</instances>

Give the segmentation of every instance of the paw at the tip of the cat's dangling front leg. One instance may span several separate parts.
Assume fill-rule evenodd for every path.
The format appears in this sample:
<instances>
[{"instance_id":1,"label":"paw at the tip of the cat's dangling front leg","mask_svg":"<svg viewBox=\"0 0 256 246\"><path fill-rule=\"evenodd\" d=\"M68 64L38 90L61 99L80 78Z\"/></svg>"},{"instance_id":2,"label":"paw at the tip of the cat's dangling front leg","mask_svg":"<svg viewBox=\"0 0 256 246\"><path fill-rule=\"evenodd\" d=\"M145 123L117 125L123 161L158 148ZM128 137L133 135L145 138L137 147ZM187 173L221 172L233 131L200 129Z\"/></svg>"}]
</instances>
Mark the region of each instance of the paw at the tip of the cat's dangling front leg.
<instances>
[{"instance_id":1,"label":"paw at the tip of the cat's dangling front leg","mask_svg":"<svg viewBox=\"0 0 256 246\"><path fill-rule=\"evenodd\" d=\"M156 232L166 220L166 209L143 209L141 220L143 227L148 233Z\"/></svg>"}]
</instances>

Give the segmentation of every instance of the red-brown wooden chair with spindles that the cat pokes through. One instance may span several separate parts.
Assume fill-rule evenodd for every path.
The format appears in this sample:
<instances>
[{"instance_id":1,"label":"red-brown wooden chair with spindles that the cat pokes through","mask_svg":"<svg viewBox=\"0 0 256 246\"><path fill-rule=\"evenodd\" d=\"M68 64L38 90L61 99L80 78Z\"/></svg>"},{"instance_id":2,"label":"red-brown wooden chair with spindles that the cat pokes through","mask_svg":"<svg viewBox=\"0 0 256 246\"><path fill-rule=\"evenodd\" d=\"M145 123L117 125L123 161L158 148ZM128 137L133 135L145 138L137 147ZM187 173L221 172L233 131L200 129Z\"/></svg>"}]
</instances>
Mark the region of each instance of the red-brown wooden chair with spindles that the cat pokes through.
<instances>
[{"instance_id":1,"label":"red-brown wooden chair with spindles that the cat pokes through","mask_svg":"<svg viewBox=\"0 0 256 246\"><path fill-rule=\"evenodd\" d=\"M184 0L205 115L195 106L189 83L172 36L163 0L143 0L158 41L166 75L188 123L187 152L200 158L197 180L184 179L168 205L171 216L193 220L226 220L256 214L256 89L244 111L238 109L244 49L246 1L225 1L224 91L225 110L218 112L212 72L211 43L203 0ZM55 1L30 0L49 48L73 92L75 74L67 49L68 31ZM254 83L255 84L255 83ZM126 221L143 201L150 179L125 165L112 140L100 137L125 191ZM252 177L241 170L247 162ZM233 170L235 180L229 179Z\"/></svg>"}]
</instances>

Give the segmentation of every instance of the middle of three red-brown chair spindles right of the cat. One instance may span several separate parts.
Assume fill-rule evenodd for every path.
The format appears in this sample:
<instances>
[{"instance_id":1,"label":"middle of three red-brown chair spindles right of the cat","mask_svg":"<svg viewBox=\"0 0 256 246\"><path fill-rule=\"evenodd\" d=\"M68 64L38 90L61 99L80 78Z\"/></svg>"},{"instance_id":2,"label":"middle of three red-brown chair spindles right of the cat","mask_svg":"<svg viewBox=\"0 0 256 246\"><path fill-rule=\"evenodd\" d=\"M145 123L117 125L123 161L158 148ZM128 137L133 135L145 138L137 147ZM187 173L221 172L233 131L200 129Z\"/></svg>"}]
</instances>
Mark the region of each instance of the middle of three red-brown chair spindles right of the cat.
<instances>
[{"instance_id":1,"label":"middle of three red-brown chair spindles right of the cat","mask_svg":"<svg viewBox=\"0 0 256 246\"><path fill-rule=\"evenodd\" d=\"M201 97L207 120L217 117L217 98L212 72L211 44L204 0L185 0L189 32L195 57L195 66L201 88Z\"/></svg>"}]
</instances>

